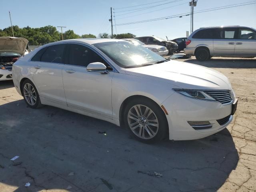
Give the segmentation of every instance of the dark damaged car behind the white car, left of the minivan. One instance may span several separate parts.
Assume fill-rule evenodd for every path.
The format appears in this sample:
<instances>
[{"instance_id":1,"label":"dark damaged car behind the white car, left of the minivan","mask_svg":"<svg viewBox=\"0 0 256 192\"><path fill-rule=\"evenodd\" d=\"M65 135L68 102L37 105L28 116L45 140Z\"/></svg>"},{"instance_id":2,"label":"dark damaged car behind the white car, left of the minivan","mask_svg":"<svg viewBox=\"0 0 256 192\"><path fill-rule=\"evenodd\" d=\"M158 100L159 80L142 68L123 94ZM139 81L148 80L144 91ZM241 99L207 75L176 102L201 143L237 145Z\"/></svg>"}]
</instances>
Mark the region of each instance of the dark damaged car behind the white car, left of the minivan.
<instances>
[{"instance_id":1,"label":"dark damaged car behind the white car, left of the minivan","mask_svg":"<svg viewBox=\"0 0 256 192\"><path fill-rule=\"evenodd\" d=\"M172 41L166 41L162 38L155 36L136 37L135 39L140 40L146 45L160 45L165 46L169 50L169 54L173 54L178 51L178 44Z\"/></svg>"}]
</instances>

